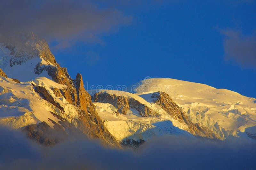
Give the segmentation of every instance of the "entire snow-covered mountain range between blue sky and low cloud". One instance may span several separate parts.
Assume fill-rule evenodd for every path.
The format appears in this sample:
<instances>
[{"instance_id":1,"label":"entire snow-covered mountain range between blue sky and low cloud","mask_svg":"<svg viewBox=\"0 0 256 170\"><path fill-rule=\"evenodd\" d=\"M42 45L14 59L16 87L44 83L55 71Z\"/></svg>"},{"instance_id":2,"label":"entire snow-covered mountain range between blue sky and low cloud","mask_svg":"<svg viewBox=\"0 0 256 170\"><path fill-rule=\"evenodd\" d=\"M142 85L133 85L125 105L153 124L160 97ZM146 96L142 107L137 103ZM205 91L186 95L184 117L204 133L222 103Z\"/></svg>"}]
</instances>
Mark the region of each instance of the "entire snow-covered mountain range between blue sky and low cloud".
<instances>
[{"instance_id":1,"label":"entire snow-covered mountain range between blue sky and low cloud","mask_svg":"<svg viewBox=\"0 0 256 170\"><path fill-rule=\"evenodd\" d=\"M116 147L172 134L256 138L255 98L175 79L146 79L132 93L89 94L82 75L72 79L32 33L0 44L0 68L0 124L44 145L72 135Z\"/></svg>"}]
</instances>

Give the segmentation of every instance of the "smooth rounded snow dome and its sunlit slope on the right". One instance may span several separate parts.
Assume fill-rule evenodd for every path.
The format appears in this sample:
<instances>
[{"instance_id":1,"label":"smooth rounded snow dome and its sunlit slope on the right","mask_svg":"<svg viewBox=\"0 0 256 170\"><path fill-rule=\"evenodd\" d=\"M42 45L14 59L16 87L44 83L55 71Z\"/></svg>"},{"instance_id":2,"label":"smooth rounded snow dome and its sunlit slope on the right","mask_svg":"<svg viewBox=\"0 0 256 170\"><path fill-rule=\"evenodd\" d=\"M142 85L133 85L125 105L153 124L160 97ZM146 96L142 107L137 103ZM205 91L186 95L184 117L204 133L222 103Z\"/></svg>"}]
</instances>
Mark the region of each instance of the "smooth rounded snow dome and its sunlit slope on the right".
<instances>
[{"instance_id":1,"label":"smooth rounded snow dome and its sunlit slope on the right","mask_svg":"<svg viewBox=\"0 0 256 170\"><path fill-rule=\"evenodd\" d=\"M239 136L256 126L256 99L227 89L175 79L146 79L131 86L150 102L148 93L164 91L182 107L194 123L208 126L222 138ZM254 132L256 133L256 131Z\"/></svg>"}]
</instances>

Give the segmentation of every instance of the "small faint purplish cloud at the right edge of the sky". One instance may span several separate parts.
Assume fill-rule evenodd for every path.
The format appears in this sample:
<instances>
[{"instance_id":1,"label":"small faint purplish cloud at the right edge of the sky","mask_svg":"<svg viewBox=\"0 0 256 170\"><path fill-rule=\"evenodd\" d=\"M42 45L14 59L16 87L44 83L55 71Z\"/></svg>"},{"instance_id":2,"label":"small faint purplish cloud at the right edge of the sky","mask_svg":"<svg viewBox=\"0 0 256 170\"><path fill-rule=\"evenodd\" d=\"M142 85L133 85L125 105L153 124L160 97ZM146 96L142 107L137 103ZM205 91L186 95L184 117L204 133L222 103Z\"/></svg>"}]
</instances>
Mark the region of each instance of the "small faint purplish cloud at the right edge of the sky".
<instances>
[{"instance_id":1,"label":"small faint purplish cloud at the right edge of the sky","mask_svg":"<svg viewBox=\"0 0 256 170\"><path fill-rule=\"evenodd\" d=\"M224 51L227 59L242 66L256 67L256 34L243 35L238 31L222 30L225 35Z\"/></svg>"}]
</instances>

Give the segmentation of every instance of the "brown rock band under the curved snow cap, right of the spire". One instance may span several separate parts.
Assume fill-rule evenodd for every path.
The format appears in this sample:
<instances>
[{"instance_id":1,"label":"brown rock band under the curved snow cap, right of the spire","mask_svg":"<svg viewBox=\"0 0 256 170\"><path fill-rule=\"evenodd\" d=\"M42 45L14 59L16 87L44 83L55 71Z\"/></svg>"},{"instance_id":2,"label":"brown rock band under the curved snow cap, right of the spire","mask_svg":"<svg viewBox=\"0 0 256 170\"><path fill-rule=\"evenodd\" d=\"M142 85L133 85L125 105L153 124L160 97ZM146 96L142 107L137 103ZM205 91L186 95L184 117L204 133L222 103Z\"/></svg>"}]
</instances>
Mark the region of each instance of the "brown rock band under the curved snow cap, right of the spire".
<instances>
[{"instance_id":1,"label":"brown rock band under the curved snow cap, right of the spire","mask_svg":"<svg viewBox=\"0 0 256 170\"><path fill-rule=\"evenodd\" d=\"M93 102L110 103L116 107L117 111L126 115L128 110L135 109L142 117L157 117L158 113L145 104L140 103L132 97L117 96L116 94L108 94L107 92L99 92L94 94Z\"/></svg>"}]
</instances>

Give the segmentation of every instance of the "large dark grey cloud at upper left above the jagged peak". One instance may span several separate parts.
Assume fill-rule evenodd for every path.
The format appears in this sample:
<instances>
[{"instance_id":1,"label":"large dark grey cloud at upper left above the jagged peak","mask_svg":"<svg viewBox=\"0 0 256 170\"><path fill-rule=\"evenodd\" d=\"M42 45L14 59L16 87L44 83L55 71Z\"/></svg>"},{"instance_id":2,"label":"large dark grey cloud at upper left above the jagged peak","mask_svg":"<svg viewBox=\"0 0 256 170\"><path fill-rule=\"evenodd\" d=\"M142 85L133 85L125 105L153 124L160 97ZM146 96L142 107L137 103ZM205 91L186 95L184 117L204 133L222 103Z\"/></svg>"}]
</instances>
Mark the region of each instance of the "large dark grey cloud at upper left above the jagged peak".
<instances>
[{"instance_id":1,"label":"large dark grey cloud at upper left above the jagged peak","mask_svg":"<svg viewBox=\"0 0 256 170\"><path fill-rule=\"evenodd\" d=\"M17 32L35 32L39 37L57 40L59 46L65 47L78 40L100 42L100 34L129 24L131 18L121 11L92 2L1 1L0 39L8 39Z\"/></svg>"}]
</instances>

